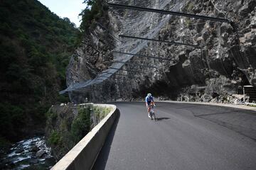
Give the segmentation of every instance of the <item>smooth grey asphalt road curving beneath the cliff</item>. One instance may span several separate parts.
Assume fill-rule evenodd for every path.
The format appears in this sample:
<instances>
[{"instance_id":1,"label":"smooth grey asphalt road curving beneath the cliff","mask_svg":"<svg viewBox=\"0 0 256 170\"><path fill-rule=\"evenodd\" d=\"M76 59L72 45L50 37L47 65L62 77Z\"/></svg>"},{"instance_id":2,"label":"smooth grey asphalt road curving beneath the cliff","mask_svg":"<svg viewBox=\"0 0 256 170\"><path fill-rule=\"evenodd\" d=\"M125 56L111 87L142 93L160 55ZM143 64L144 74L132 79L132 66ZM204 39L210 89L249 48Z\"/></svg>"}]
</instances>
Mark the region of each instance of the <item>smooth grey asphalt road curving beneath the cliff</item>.
<instances>
[{"instance_id":1,"label":"smooth grey asphalt road curving beneath the cliff","mask_svg":"<svg viewBox=\"0 0 256 170\"><path fill-rule=\"evenodd\" d=\"M256 169L256 112L218 106L114 103L120 117L93 169Z\"/></svg>"}]
</instances>

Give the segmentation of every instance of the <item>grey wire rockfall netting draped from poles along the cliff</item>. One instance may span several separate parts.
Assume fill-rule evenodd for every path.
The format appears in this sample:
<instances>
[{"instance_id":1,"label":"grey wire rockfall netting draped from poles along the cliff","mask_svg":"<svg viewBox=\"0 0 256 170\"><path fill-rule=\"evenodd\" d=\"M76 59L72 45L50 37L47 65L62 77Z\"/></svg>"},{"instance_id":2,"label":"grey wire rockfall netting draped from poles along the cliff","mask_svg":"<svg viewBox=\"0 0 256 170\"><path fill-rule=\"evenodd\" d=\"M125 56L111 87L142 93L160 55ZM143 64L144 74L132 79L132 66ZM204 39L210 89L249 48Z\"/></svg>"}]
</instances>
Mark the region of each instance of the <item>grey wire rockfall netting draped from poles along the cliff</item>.
<instances>
[{"instance_id":1,"label":"grey wire rockfall netting draped from poles along the cliff","mask_svg":"<svg viewBox=\"0 0 256 170\"><path fill-rule=\"evenodd\" d=\"M180 11L181 7L186 3L186 1L187 0L114 0L109 1L109 3L164 9L169 11ZM112 13L112 16L117 17L122 23L122 30L119 31L119 34L155 39L157 39L156 35L158 35L161 28L163 28L172 17L171 15L164 15L161 13L151 13L118 8L110 8L110 13ZM117 40L117 47L114 49L114 51L121 51L132 54L139 53L144 47L148 45L149 42L148 40L119 38L118 35L113 36L114 39ZM122 55L118 53L114 53L113 55L115 62L111 67L116 69L107 69L104 72L98 74L95 79L70 84L67 89L60 91L60 94L64 94L65 92L70 91L85 91L92 85L101 84L103 81L110 79L112 75L122 70L124 64L129 62L129 60L134 57L133 55ZM154 55L154 51L152 51L152 55Z\"/></svg>"}]
</instances>

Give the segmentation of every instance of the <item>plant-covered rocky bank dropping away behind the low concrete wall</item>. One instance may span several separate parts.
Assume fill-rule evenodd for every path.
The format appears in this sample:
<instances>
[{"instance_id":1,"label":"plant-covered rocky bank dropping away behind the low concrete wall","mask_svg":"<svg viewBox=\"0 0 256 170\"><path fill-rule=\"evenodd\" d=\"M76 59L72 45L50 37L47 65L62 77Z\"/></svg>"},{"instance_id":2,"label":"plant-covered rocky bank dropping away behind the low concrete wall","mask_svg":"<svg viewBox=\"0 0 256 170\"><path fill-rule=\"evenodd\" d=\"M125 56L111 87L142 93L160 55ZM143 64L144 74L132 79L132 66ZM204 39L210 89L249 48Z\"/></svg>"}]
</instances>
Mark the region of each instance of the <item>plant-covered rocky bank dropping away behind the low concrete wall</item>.
<instances>
[{"instance_id":1,"label":"plant-covered rocky bank dropping away behind the low concrete wall","mask_svg":"<svg viewBox=\"0 0 256 170\"><path fill-rule=\"evenodd\" d=\"M112 108L73 106L71 103L50 108L47 113L46 138L55 159L59 160L67 154L110 111ZM92 113L95 116L92 117Z\"/></svg>"}]
</instances>

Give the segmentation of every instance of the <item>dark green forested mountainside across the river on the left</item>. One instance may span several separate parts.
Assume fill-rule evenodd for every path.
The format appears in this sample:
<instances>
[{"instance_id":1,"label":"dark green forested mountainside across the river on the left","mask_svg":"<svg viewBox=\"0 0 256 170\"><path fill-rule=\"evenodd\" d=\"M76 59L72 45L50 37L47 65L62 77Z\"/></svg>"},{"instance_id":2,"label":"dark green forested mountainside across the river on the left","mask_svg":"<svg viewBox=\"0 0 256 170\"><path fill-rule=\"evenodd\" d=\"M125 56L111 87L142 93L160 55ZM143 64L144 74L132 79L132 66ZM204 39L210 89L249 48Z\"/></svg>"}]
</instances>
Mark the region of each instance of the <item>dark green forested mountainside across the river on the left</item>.
<instances>
[{"instance_id":1,"label":"dark green forested mountainside across the river on the left","mask_svg":"<svg viewBox=\"0 0 256 170\"><path fill-rule=\"evenodd\" d=\"M78 29L36 0L1 1L0 23L0 139L18 140L66 100L58 91Z\"/></svg>"}]
</instances>

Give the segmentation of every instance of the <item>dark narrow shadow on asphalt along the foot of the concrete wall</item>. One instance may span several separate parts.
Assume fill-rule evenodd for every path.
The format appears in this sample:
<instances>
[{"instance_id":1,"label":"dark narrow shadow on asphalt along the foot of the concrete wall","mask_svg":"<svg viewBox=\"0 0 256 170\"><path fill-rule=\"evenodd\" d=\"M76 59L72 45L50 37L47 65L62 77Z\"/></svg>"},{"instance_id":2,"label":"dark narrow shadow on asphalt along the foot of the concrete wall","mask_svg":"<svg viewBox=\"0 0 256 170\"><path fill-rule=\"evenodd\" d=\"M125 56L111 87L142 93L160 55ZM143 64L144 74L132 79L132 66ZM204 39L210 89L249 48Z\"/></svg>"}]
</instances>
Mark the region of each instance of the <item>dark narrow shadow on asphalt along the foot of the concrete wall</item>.
<instances>
[{"instance_id":1,"label":"dark narrow shadow on asphalt along the foot of the concrete wall","mask_svg":"<svg viewBox=\"0 0 256 170\"><path fill-rule=\"evenodd\" d=\"M92 170L101 170L101 169L105 169L106 164L107 164L107 159L109 157L110 154L110 148L111 148L111 144L114 138L114 132L117 130L117 124L119 121L119 117L120 117L120 111L119 114L117 116L117 119L114 121L114 124L112 125L112 128L109 132L109 134L107 135L107 139L105 141L105 144L103 145L102 149L100 150L100 153L96 159L95 164L92 167Z\"/></svg>"}]
</instances>

